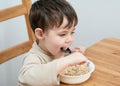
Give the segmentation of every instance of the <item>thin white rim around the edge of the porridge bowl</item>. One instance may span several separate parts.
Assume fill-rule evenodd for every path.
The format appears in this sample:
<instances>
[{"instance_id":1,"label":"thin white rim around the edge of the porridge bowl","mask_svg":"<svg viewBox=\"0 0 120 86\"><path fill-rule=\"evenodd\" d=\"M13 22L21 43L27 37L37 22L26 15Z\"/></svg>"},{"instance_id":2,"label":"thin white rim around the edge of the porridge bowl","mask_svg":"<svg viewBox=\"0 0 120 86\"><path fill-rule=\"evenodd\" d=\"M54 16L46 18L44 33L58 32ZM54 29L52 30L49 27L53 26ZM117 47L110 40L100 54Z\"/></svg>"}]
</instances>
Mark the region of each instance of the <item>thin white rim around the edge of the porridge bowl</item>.
<instances>
[{"instance_id":1,"label":"thin white rim around the edge of the porridge bowl","mask_svg":"<svg viewBox=\"0 0 120 86\"><path fill-rule=\"evenodd\" d=\"M63 77L82 77L82 76L86 76L86 75L88 75L88 74L91 74L91 73L95 70L95 65L94 65L94 63L93 63L92 61L90 61L90 60L88 60L86 63L88 63L88 62L89 62L90 67L92 67L92 69L90 69L90 71L89 71L88 73L83 74L83 75L79 75L79 76L75 76L75 75L69 76L69 75L64 75L64 74L60 74L60 76L63 76Z\"/></svg>"}]
</instances>

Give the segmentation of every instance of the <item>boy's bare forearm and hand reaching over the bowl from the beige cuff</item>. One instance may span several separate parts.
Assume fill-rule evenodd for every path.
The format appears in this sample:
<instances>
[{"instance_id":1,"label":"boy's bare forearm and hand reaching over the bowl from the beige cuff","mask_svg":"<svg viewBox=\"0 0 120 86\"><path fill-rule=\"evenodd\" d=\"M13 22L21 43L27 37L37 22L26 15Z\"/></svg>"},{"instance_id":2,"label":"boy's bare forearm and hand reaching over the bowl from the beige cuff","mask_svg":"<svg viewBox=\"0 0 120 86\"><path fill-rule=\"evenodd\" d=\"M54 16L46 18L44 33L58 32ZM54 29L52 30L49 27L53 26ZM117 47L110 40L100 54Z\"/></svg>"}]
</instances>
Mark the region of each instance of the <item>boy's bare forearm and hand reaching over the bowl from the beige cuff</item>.
<instances>
[{"instance_id":1,"label":"boy's bare forearm and hand reaching over the bowl from the beige cuff","mask_svg":"<svg viewBox=\"0 0 120 86\"><path fill-rule=\"evenodd\" d=\"M59 74L66 67L87 62L87 58L80 52L74 52L58 59L57 73Z\"/></svg>"}]
</instances>

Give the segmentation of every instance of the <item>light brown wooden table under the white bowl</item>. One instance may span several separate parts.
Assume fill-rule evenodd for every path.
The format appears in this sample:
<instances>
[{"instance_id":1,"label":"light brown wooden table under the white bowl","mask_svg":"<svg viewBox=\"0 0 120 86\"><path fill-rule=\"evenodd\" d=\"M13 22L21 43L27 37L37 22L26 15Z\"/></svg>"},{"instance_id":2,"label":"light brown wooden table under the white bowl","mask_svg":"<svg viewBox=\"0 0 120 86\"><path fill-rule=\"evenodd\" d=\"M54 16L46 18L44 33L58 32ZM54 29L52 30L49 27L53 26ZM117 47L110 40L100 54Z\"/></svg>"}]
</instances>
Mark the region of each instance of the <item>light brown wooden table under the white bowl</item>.
<instances>
[{"instance_id":1,"label":"light brown wooden table under the white bowl","mask_svg":"<svg viewBox=\"0 0 120 86\"><path fill-rule=\"evenodd\" d=\"M69 86L120 86L120 39L103 39L90 46L85 55L95 64L95 71L86 82Z\"/></svg>"}]
</instances>

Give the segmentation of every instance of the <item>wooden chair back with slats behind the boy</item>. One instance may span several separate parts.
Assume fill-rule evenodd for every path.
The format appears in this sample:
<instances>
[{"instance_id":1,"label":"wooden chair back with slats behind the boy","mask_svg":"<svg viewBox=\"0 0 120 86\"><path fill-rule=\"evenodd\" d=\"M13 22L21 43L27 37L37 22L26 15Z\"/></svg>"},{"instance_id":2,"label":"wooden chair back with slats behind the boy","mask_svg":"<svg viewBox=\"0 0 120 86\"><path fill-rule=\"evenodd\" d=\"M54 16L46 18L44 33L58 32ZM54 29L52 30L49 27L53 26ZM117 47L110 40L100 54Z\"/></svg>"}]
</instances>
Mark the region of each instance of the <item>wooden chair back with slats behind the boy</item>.
<instances>
[{"instance_id":1,"label":"wooden chair back with slats behind the boy","mask_svg":"<svg viewBox=\"0 0 120 86\"><path fill-rule=\"evenodd\" d=\"M0 22L24 15L29 37L28 41L25 41L21 44L17 44L3 51L0 51L0 64L12 59L13 57L16 57L20 54L27 52L31 48L31 45L34 40L34 34L32 32L28 19L30 7L31 0L22 0L22 4L0 10Z\"/></svg>"}]
</instances>

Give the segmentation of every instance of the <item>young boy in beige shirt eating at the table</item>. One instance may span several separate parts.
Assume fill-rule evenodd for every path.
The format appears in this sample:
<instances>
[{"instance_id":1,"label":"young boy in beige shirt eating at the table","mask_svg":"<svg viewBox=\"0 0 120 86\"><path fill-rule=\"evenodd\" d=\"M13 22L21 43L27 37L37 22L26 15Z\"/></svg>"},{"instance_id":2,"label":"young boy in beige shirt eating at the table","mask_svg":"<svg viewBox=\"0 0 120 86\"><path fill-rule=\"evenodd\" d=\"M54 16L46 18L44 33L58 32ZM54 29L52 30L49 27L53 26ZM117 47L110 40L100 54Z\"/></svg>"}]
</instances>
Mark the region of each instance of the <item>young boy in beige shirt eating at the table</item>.
<instances>
[{"instance_id":1,"label":"young boy in beige shirt eating at the table","mask_svg":"<svg viewBox=\"0 0 120 86\"><path fill-rule=\"evenodd\" d=\"M38 0L31 7L29 19L36 40L24 59L18 85L59 85L59 74L66 67L87 61L81 48L64 56L74 39L77 15L66 0Z\"/></svg>"}]
</instances>

